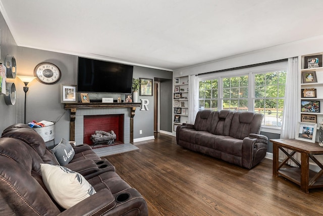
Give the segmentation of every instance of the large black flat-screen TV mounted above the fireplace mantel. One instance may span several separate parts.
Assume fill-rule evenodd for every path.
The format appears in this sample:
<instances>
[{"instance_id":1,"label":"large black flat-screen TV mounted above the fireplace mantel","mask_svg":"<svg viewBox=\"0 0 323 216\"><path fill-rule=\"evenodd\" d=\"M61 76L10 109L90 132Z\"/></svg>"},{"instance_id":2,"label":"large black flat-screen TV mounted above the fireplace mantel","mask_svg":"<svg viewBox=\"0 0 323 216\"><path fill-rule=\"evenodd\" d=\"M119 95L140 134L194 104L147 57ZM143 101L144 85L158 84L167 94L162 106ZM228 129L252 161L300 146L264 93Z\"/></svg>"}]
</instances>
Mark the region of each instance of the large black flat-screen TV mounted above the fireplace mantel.
<instances>
[{"instance_id":1,"label":"large black flat-screen TV mounted above the fireplace mantel","mask_svg":"<svg viewBox=\"0 0 323 216\"><path fill-rule=\"evenodd\" d=\"M131 93L133 66L78 58L78 92Z\"/></svg>"}]
</instances>

